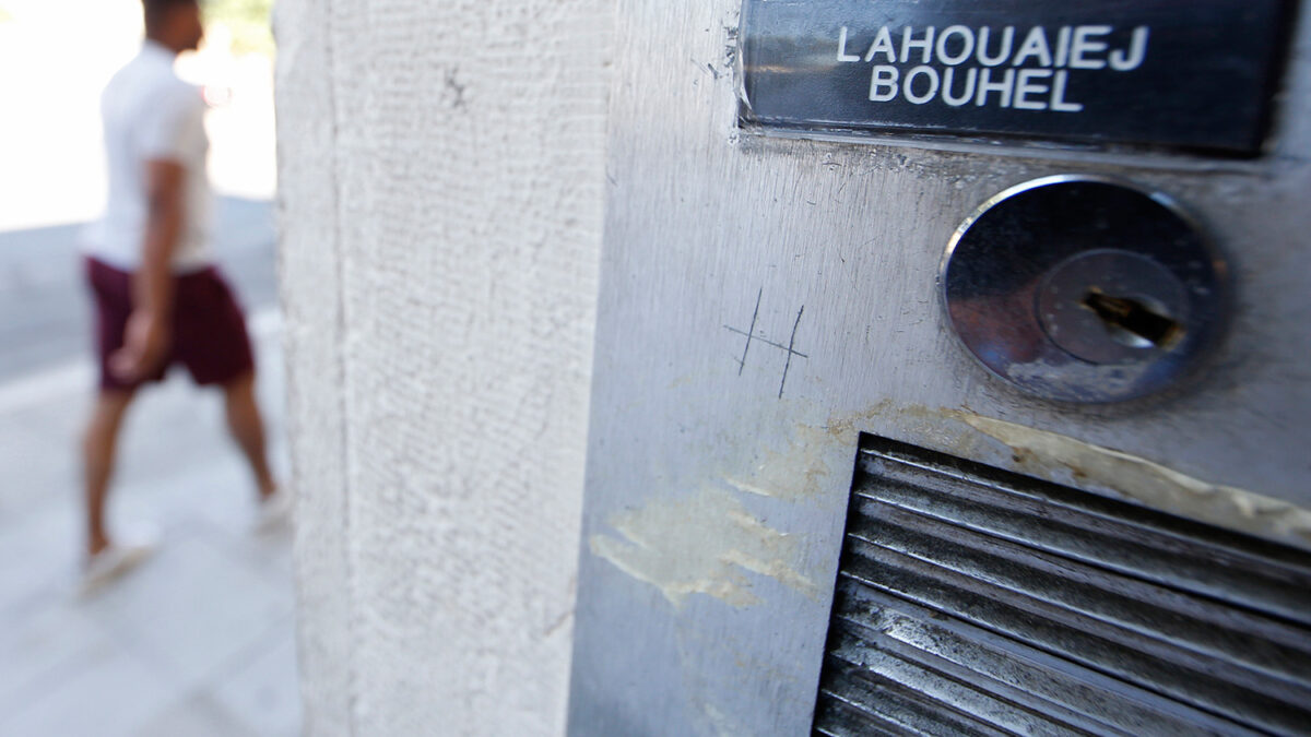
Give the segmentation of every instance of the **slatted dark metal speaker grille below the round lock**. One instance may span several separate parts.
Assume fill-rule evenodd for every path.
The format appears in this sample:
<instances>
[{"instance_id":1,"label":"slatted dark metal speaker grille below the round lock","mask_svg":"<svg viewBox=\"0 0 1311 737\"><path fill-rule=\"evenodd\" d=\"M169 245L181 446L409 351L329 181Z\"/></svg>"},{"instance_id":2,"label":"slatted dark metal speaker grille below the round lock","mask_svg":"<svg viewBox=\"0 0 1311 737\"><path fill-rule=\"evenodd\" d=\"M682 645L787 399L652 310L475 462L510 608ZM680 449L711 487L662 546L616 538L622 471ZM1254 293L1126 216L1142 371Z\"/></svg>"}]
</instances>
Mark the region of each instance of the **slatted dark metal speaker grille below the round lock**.
<instances>
[{"instance_id":1,"label":"slatted dark metal speaker grille below the round lock","mask_svg":"<svg viewBox=\"0 0 1311 737\"><path fill-rule=\"evenodd\" d=\"M817 734L1311 734L1311 553L861 437Z\"/></svg>"}]
</instances>

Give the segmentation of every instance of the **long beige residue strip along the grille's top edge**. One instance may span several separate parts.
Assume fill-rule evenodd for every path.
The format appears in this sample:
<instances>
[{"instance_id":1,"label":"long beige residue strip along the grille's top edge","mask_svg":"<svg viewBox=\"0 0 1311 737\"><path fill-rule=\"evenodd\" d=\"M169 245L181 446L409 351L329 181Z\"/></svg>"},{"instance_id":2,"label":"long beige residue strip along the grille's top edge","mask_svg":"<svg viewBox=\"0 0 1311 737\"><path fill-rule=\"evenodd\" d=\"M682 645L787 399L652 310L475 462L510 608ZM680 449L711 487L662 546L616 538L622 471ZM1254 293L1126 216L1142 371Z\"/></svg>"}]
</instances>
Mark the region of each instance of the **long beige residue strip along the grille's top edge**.
<instances>
[{"instance_id":1,"label":"long beige residue strip along the grille's top edge","mask_svg":"<svg viewBox=\"0 0 1311 737\"><path fill-rule=\"evenodd\" d=\"M1027 463L1059 464L1075 476L1148 506L1311 548L1311 510L1264 494L1210 484L1151 460L1002 420L958 413L966 425Z\"/></svg>"}]
</instances>

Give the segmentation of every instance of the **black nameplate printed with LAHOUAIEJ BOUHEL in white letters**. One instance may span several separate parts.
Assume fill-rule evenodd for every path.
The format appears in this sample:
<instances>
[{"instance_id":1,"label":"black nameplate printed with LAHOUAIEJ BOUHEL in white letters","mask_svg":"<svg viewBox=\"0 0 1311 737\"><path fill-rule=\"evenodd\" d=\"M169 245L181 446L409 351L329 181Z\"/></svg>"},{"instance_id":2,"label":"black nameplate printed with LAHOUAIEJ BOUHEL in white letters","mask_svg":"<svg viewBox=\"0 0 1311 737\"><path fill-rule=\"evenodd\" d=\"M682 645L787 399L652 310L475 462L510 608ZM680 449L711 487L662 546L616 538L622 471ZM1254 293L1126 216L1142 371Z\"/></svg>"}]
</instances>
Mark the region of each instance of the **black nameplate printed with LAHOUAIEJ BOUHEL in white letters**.
<instances>
[{"instance_id":1,"label":"black nameplate printed with LAHOUAIEJ BOUHEL in white letters","mask_svg":"<svg viewBox=\"0 0 1311 737\"><path fill-rule=\"evenodd\" d=\"M1286 0L745 0L742 118L1257 153Z\"/></svg>"}]
</instances>

